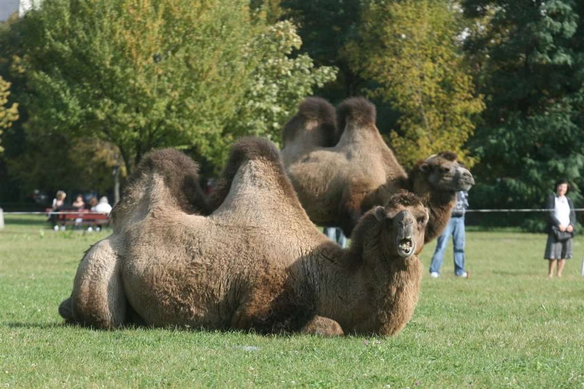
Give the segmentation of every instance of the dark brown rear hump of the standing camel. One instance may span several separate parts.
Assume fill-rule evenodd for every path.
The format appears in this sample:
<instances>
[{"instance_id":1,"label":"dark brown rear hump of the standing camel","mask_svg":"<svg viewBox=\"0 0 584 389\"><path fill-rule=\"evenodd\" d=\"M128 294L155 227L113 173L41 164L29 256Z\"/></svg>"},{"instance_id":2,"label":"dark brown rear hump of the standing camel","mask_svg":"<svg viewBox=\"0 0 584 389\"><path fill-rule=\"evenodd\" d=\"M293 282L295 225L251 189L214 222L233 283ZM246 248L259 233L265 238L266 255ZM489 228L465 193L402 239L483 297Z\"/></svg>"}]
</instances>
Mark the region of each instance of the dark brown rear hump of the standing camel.
<instances>
[{"instance_id":1,"label":"dark brown rear hump of the standing camel","mask_svg":"<svg viewBox=\"0 0 584 389\"><path fill-rule=\"evenodd\" d=\"M302 100L298 106L298 113L286 122L282 130L284 147L292 142L298 133L307 130L314 133L313 136L316 138L311 143L315 146L332 146L338 141L334 106L330 102L321 97L307 97Z\"/></svg>"}]
</instances>

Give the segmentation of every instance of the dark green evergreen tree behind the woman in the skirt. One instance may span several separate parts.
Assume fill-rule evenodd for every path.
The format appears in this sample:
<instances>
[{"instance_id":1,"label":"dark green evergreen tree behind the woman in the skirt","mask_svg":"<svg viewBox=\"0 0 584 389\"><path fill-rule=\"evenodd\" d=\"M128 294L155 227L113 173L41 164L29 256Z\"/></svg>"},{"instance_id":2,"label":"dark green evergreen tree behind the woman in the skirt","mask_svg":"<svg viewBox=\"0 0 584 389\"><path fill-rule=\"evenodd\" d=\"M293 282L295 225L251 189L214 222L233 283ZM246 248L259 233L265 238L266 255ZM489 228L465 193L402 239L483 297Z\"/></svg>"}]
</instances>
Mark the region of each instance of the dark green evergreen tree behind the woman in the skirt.
<instances>
[{"instance_id":1,"label":"dark green evergreen tree behind the woman in the skirt","mask_svg":"<svg viewBox=\"0 0 584 389\"><path fill-rule=\"evenodd\" d=\"M578 202L584 3L467 0L464 10L479 26L467 49L487 100L472 142L481 159L476 200L485 207L540 207L562 177Z\"/></svg>"}]
</instances>

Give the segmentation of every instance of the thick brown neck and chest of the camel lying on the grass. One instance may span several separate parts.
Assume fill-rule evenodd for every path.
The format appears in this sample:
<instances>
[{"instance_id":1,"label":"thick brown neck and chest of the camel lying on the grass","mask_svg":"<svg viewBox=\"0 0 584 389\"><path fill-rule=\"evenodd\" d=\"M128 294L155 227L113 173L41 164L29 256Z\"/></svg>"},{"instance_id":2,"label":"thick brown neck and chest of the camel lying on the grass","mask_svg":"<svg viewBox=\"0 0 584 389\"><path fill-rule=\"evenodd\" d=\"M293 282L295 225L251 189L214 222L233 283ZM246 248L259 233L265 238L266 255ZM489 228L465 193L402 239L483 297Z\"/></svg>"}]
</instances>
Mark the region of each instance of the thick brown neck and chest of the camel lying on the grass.
<instances>
[{"instance_id":1,"label":"thick brown neck and chest of the camel lying on the grass","mask_svg":"<svg viewBox=\"0 0 584 389\"><path fill-rule=\"evenodd\" d=\"M337 321L346 333L400 331L409 321L419 294L421 262L367 252L380 258L352 257L355 248L342 252L339 260L321 262L318 283L314 285L316 315ZM375 264L375 265L374 265ZM312 278L314 280L314 278Z\"/></svg>"}]
</instances>

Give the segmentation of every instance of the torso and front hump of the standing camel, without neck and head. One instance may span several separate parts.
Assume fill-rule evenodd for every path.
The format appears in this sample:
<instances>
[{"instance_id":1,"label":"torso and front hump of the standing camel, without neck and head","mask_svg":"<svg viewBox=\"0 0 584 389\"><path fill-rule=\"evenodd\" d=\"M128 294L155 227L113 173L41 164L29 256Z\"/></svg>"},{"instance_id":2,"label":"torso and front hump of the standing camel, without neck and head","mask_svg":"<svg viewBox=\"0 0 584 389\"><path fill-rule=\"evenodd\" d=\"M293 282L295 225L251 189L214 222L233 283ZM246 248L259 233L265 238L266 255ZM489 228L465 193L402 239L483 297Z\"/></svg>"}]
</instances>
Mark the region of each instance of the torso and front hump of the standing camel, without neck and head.
<instances>
[{"instance_id":1,"label":"torso and front hump of the standing camel, without neck and head","mask_svg":"<svg viewBox=\"0 0 584 389\"><path fill-rule=\"evenodd\" d=\"M286 143L282 155L310 219L318 225L339 226L350 235L363 214L365 196L407 176L375 127L373 104L353 97L341 103L338 113L337 121L344 127L334 147ZM290 154L295 155L286 157Z\"/></svg>"}]
</instances>

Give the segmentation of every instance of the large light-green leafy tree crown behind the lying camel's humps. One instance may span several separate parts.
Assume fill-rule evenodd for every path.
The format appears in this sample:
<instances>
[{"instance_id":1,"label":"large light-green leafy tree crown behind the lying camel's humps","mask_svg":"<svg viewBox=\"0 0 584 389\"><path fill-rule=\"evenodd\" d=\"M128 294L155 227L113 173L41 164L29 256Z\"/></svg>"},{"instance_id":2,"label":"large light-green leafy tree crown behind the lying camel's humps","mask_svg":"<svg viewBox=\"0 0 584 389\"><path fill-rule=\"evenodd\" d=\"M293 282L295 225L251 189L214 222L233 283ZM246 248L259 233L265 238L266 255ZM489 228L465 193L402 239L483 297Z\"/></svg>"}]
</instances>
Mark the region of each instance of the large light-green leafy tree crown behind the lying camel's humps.
<instances>
[{"instance_id":1,"label":"large light-green leafy tree crown behind the lying camel's humps","mask_svg":"<svg viewBox=\"0 0 584 389\"><path fill-rule=\"evenodd\" d=\"M286 45L299 45L293 29L268 28L248 1L54 0L19 23L29 138L97 137L117 146L127 170L164 146L220 166L251 117L283 121L276 111L332 79L307 57L287 58Z\"/></svg>"}]
</instances>

